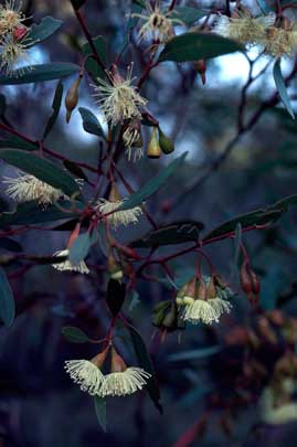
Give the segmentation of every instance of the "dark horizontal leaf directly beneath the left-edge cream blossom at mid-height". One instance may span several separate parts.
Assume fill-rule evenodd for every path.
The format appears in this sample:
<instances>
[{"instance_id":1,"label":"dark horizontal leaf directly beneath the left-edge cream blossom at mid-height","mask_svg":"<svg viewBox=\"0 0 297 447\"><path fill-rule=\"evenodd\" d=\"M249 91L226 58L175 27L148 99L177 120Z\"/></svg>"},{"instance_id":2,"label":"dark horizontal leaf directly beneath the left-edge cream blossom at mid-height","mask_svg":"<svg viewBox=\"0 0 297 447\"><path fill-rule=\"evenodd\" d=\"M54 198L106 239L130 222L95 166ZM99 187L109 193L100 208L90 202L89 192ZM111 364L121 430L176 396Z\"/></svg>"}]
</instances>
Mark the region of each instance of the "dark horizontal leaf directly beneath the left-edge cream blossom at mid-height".
<instances>
[{"instance_id":1,"label":"dark horizontal leaf directly beneath the left-edge cream blossom at mid-height","mask_svg":"<svg viewBox=\"0 0 297 447\"><path fill-rule=\"evenodd\" d=\"M65 212L61 211L55 205L49 205L46 209L42 209L36 202L26 202L18 205L13 212L4 212L0 214L0 227L7 227L11 225L29 225L29 224L42 224L62 220L70 220L77 217L76 212L72 212L73 203L67 201L60 201L59 204L65 209ZM76 209L83 209L83 203L74 202Z\"/></svg>"}]
</instances>

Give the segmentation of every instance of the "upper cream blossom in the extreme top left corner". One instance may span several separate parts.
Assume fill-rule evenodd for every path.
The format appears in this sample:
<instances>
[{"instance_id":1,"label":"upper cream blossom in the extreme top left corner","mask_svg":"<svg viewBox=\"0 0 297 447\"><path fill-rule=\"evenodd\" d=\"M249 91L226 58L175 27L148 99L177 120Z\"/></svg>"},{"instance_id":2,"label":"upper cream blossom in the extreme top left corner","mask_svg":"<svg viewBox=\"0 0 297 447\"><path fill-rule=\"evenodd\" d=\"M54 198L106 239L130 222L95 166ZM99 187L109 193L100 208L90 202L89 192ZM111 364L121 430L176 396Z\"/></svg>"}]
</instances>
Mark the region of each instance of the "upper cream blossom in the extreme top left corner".
<instances>
[{"instance_id":1,"label":"upper cream blossom in the extreme top left corner","mask_svg":"<svg viewBox=\"0 0 297 447\"><path fill-rule=\"evenodd\" d=\"M15 0L7 0L0 6L0 35L11 33L20 26L23 26L25 15L21 12L22 3L17 6Z\"/></svg>"}]
</instances>

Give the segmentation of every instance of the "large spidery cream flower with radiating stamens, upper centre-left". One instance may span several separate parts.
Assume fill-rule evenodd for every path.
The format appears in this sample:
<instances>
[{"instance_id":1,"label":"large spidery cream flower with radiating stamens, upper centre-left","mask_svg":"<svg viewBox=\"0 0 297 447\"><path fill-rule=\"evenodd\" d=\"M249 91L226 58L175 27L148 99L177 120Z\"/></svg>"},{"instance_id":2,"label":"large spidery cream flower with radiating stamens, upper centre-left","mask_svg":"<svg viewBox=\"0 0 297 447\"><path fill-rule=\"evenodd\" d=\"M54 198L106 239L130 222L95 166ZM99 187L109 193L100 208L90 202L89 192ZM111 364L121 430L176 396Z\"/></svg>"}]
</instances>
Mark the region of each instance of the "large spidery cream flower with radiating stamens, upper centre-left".
<instances>
[{"instance_id":1,"label":"large spidery cream flower with radiating stamens, upper centre-left","mask_svg":"<svg viewBox=\"0 0 297 447\"><path fill-rule=\"evenodd\" d=\"M127 78L124 79L117 71L109 73L112 84L97 78L98 85L95 87L95 97L100 105L106 120L113 125L123 124L126 119L141 118L139 107L147 104L137 92L137 87L131 85L132 67L127 71Z\"/></svg>"}]
</instances>

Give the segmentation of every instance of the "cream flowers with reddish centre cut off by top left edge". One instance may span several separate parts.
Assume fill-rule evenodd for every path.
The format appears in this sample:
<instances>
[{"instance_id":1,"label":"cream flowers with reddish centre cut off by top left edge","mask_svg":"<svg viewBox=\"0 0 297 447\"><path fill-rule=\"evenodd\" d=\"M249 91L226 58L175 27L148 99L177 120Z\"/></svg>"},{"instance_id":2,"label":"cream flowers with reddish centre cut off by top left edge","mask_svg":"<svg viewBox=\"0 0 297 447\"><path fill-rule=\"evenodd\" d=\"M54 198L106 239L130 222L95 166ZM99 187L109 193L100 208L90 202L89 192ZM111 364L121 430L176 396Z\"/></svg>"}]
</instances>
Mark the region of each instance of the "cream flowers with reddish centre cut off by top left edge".
<instances>
[{"instance_id":1,"label":"cream flowers with reddish centre cut off by top left edge","mask_svg":"<svg viewBox=\"0 0 297 447\"><path fill-rule=\"evenodd\" d=\"M19 63L28 61L28 41L24 38L29 28L24 21L21 7L17 7L14 0L7 0L4 6L0 6L0 68L8 75Z\"/></svg>"}]
</instances>

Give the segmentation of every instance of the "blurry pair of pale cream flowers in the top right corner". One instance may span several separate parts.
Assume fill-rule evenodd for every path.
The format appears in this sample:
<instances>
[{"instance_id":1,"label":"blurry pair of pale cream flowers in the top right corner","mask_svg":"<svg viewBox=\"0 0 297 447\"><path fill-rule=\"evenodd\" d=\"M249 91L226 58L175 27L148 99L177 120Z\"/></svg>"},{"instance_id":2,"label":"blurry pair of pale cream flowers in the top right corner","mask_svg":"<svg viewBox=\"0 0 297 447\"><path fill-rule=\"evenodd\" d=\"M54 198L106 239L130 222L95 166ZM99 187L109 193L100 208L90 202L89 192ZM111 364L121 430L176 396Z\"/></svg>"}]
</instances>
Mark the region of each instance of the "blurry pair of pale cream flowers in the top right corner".
<instances>
[{"instance_id":1,"label":"blurry pair of pale cream flowers in the top right corner","mask_svg":"<svg viewBox=\"0 0 297 447\"><path fill-rule=\"evenodd\" d=\"M275 21L274 13L254 18L248 10L238 10L231 18L220 15L213 31L243 44L259 45L273 57L293 56L297 52L296 24L287 19Z\"/></svg>"}]
</instances>

